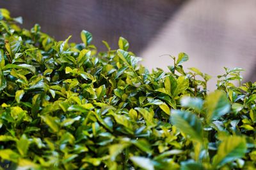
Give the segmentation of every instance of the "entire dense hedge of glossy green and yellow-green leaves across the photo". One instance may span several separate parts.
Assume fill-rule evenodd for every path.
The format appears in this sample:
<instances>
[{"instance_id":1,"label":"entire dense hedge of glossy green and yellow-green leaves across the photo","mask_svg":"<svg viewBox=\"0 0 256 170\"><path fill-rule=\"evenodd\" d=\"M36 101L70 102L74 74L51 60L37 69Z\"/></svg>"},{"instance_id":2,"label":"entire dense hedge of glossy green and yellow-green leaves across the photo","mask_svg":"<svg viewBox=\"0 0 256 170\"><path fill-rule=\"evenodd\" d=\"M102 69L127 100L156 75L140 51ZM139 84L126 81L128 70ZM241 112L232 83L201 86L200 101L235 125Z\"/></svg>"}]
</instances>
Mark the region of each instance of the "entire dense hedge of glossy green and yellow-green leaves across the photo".
<instances>
[{"instance_id":1,"label":"entire dense hedge of glossy green and yellow-green leaves across the photo","mask_svg":"<svg viewBox=\"0 0 256 170\"><path fill-rule=\"evenodd\" d=\"M97 52L20 29L0 10L0 160L12 169L255 169L256 83L239 68L210 76L186 53L170 72L120 49Z\"/></svg>"}]
</instances>

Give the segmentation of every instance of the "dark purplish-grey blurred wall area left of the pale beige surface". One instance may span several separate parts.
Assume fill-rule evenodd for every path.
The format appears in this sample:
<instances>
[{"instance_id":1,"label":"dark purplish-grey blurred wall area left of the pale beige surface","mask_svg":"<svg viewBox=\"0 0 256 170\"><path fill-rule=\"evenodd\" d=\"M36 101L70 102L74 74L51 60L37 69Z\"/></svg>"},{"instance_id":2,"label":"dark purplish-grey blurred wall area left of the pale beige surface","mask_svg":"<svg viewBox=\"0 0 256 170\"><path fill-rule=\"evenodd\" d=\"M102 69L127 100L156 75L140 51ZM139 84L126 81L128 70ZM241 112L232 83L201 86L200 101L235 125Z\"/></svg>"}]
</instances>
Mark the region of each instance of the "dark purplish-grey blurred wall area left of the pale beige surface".
<instances>
[{"instance_id":1,"label":"dark purplish-grey blurred wall area left of the pale beige surface","mask_svg":"<svg viewBox=\"0 0 256 170\"><path fill-rule=\"evenodd\" d=\"M133 52L140 52L159 29L179 10L184 0L1 0L13 17L22 16L22 27L38 23L42 31L57 40L72 34L81 42L80 32L92 32L93 44L106 50L102 40L116 47L123 36Z\"/></svg>"}]
</instances>

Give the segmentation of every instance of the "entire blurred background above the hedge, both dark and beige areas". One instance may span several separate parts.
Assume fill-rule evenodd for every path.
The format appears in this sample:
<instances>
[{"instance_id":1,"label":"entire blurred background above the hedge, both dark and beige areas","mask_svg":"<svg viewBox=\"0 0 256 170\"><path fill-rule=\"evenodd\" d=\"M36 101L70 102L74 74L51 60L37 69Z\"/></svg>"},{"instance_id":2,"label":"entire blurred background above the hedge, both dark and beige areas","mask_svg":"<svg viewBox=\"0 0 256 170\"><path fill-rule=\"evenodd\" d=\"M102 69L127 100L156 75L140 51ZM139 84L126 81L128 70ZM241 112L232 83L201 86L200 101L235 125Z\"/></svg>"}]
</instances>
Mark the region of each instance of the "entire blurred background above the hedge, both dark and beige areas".
<instances>
[{"instance_id":1,"label":"entire blurred background above the hedge, both dark and beige areas","mask_svg":"<svg viewBox=\"0 0 256 170\"><path fill-rule=\"evenodd\" d=\"M212 75L211 88L224 66L242 67L244 80L256 81L255 0L1 0L0 8L57 40L71 34L79 43L81 30L90 31L99 50L106 50L102 40L117 48L123 36L148 69L172 65L160 55L188 53L184 67Z\"/></svg>"}]
</instances>

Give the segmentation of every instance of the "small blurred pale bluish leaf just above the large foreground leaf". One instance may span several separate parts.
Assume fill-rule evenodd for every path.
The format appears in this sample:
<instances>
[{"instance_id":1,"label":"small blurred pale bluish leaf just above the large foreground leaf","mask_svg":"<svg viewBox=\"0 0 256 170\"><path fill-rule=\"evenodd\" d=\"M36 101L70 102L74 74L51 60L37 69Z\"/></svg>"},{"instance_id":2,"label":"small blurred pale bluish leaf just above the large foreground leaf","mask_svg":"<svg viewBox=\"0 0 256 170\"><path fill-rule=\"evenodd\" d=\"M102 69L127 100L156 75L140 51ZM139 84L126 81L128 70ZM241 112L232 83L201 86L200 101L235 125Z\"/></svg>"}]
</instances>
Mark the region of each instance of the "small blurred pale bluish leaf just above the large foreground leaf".
<instances>
[{"instance_id":1,"label":"small blurred pale bluish leaf just above the large foreground leaf","mask_svg":"<svg viewBox=\"0 0 256 170\"><path fill-rule=\"evenodd\" d=\"M183 107L193 108L196 111L201 111L203 108L203 100L198 97L182 97L180 104Z\"/></svg>"}]
</instances>

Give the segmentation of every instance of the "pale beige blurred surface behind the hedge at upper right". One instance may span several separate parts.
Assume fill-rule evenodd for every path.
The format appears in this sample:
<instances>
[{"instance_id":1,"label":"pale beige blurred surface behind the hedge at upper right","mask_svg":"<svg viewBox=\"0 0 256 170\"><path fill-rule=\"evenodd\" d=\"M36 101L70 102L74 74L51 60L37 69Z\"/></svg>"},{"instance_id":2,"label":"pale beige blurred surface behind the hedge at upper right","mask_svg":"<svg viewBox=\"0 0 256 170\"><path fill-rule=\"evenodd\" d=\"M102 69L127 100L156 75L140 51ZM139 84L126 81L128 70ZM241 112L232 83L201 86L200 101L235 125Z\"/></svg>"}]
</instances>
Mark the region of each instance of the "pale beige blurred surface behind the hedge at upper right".
<instances>
[{"instance_id":1,"label":"pale beige blurred surface behind the hedge at upper right","mask_svg":"<svg viewBox=\"0 0 256 170\"><path fill-rule=\"evenodd\" d=\"M189 55L185 68L197 67L214 77L209 81L211 89L224 66L242 67L246 80L255 79L256 1L191 0L166 22L140 56L149 69L167 70L172 60L159 55L177 56L179 52Z\"/></svg>"}]
</instances>

